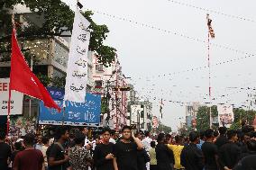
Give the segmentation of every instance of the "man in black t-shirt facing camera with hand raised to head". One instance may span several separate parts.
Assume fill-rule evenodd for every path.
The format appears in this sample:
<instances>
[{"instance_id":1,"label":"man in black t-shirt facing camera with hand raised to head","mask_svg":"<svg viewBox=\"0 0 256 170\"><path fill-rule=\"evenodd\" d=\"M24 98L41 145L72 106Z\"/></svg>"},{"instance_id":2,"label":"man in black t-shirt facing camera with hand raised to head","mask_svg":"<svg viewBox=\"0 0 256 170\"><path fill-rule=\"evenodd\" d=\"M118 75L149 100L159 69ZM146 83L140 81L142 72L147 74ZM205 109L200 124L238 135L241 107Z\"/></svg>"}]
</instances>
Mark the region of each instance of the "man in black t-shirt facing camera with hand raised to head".
<instances>
[{"instance_id":1,"label":"man in black t-shirt facing camera with hand raised to head","mask_svg":"<svg viewBox=\"0 0 256 170\"><path fill-rule=\"evenodd\" d=\"M114 170L138 170L137 150L143 148L142 142L134 137L130 126L123 126L122 135L114 146Z\"/></svg>"}]
</instances>

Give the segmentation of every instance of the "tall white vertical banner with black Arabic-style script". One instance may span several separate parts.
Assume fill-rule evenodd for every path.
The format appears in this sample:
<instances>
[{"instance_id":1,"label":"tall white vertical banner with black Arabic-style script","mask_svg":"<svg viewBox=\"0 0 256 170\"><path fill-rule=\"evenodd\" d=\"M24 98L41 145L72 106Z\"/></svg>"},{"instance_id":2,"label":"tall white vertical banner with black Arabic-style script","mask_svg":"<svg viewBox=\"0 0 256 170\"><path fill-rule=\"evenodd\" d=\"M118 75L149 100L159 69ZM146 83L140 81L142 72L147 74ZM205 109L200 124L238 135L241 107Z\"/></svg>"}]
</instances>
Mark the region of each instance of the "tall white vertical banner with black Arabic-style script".
<instances>
[{"instance_id":1,"label":"tall white vertical banner with black Arabic-style script","mask_svg":"<svg viewBox=\"0 0 256 170\"><path fill-rule=\"evenodd\" d=\"M90 22L78 11L75 13L69 48L65 85L65 101L85 103L87 91L87 54L90 41Z\"/></svg>"}]
</instances>

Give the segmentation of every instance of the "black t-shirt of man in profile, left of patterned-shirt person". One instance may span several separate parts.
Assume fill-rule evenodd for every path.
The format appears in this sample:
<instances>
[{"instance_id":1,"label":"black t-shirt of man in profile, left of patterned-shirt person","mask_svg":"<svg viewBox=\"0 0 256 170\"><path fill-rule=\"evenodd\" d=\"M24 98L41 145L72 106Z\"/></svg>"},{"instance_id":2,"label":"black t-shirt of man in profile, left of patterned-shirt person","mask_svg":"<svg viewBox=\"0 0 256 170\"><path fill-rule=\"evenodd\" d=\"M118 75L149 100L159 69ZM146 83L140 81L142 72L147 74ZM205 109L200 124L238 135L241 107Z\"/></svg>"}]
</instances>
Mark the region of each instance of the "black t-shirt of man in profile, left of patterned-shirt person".
<instances>
[{"instance_id":1,"label":"black t-shirt of man in profile, left of patterned-shirt person","mask_svg":"<svg viewBox=\"0 0 256 170\"><path fill-rule=\"evenodd\" d=\"M46 151L47 159L49 160L49 157L54 157L55 161L63 160L65 151L62 150L59 145L52 144ZM49 170L63 170L68 167L68 163L64 163L58 166L49 166Z\"/></svg>"}]
</instances>

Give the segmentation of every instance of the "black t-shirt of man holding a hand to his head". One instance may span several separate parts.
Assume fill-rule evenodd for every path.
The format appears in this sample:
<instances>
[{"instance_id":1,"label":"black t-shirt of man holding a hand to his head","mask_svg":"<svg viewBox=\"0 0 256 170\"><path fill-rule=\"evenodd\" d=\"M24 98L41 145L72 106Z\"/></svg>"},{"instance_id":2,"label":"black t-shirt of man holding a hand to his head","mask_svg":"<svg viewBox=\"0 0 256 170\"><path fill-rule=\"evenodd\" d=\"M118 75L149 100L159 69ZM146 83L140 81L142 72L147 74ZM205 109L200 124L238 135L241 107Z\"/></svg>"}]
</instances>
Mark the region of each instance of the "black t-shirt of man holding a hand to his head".
<instances>
[{"instance_id":1,"label":"black t-shirt of man holding a hand to his head","mask_svg":"<svg viewBox=\"0 0 256 170\"><path fill-rule=\"evenodd\" d=\"M117 142L114 145L114 157L118 170L137 170L137 145L133 142Z\"/></svg>"}]
</instances>

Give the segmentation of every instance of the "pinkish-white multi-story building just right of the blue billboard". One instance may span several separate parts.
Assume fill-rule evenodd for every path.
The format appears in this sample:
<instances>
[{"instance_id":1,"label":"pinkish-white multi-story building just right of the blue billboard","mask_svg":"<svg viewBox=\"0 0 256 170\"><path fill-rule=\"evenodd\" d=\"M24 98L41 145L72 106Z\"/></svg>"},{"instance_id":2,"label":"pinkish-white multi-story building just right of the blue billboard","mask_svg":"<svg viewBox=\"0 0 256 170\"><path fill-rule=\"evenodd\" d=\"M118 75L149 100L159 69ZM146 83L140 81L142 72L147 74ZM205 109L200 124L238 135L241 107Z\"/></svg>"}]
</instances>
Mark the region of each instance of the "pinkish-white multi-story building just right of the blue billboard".
<instances>
[{"instance_id":1,"label":"pinkish-white multi-story building just right of the blue billboard","mask_svg":"<svg viewBox=\"0 0 256 170\"><path fill-rule=\"evenodd\" d=\"M127 78L123 75L122 67L117 56L109 67L97 62L93 55L93 93L102 94L103 102L107 101L108 111L102 112L103 126L120 130L127 124L127 92L122 89L128 87Z\"/></svg>"}]
</instances>

